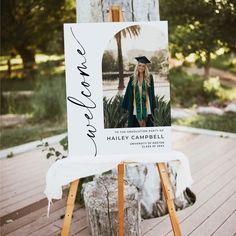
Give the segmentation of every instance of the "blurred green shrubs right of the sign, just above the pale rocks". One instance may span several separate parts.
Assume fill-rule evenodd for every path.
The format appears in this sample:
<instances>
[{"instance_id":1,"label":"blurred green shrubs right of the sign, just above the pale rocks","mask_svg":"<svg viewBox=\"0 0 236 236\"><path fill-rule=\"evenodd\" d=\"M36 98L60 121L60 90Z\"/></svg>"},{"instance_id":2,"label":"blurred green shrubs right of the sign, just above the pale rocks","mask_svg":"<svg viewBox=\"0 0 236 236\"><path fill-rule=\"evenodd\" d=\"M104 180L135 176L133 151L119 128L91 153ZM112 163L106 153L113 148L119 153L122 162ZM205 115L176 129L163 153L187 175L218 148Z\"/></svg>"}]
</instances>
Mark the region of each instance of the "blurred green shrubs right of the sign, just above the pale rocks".
<instances>
[{"instance_id":1,"label":"blurred green shrubs right of the sign, just above the pale rocks","mask_svg":"<svg viewBox=\"0 0 236 236\"><path fill-rule=\"evenodd\" d=\"M225 88L219 78L208 80L189 75L181 67L170 70L171 99L175 106L191 107L197 105L224 105L236 99L236 88Z\"/></svg>"}]
</instances>

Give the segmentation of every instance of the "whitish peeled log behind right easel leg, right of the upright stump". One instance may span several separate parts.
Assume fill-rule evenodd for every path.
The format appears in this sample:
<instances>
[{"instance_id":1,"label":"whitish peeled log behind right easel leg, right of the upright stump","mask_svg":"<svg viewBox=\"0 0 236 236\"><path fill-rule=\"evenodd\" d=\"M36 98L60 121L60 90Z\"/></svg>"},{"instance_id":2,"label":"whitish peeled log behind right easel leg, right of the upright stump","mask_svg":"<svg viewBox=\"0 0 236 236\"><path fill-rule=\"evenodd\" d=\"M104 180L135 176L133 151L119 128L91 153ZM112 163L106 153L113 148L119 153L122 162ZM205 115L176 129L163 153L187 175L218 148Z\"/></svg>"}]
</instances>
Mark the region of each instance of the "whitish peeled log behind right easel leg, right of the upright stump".
<instances>
[{"instance_id":1,"label":"whitish peeled log behind right easel leg, right of the upright stump","mask_svg":"<svg viewBox=\"0 0 236 236\"><path fill-rule=\"evenodd\" d=\"M175 191L179 163L175 161L168 162L167 167L171 185ZM162 184L156 165L125 165L125 178L138 189L141 217L143 219L168 214L166 200L163 195ZM193 205L195 201L195 194L190 189L186 189L178 198L174 199L175 208L176 210L182 210Z\"/></svg>"}]
</instances>

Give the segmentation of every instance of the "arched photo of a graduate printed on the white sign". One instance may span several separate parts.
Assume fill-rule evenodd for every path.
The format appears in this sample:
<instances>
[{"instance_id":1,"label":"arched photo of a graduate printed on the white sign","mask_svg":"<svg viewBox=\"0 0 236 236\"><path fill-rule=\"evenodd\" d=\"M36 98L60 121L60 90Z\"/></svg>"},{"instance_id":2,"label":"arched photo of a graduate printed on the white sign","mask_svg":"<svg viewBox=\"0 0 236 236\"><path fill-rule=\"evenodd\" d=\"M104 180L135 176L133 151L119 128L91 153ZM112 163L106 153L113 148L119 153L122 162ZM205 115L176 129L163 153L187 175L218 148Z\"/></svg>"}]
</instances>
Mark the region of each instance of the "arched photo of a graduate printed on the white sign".
<instances>
[{"instance_id":1,"label":"arched photo of a graduate printed on the white sign","mask_svg":"<svg viewBox=\"0 0 236 236\"><path fill-rule=\"evenodd\" d=\"M117 32L102 59L104 128L170 126L168 66L165 28Z\"/></svg>"}]
</instances>

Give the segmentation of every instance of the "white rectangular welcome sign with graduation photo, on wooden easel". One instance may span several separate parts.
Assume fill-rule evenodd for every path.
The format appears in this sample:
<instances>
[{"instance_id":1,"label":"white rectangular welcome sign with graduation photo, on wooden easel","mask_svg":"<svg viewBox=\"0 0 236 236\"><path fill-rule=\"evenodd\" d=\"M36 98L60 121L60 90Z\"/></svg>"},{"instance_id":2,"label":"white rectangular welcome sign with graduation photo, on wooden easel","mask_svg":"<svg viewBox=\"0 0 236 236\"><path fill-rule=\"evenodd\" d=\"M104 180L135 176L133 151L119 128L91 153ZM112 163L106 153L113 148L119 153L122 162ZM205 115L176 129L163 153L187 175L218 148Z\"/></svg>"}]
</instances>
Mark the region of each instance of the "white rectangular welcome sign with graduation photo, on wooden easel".
<instances>
[{"instance_id":1,"label":"white rectangular welcome sign with graduation photo, on wooden easel","mask_svg":"<svg viewBox=\"0 0 236 236\"><path fill-rule=\"evenodd\" d=\"M169 151L167 22L65 24L64 38L70 156Z\"/></svg>"}]
</instances>

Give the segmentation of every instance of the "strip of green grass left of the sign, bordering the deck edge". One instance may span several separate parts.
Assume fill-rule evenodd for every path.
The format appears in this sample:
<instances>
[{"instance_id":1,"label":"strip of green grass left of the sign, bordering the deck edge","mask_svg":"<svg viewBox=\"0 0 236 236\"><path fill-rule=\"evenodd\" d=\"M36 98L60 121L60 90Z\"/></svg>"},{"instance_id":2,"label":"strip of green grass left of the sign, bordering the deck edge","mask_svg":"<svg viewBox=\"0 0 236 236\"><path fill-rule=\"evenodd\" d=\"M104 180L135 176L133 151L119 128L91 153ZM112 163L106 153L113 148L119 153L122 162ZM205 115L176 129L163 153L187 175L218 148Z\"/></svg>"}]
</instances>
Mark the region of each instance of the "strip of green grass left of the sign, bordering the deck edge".
<instances>
[{"instance_id":1,"label":"strip of green grass left of the sign, bordering the deck edge","mask_svg":"<svg viewBox=\"0 0 236 236\"><path fill-rule=\"evenodd\" d=\"M4 128L0 134L0 149L61 134L66 132L66 130L66 122L45 122L40 124L26 124L22 127Z\"/></svg>"}]
</instances>

